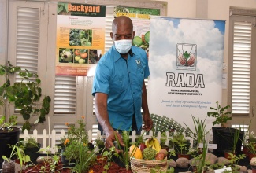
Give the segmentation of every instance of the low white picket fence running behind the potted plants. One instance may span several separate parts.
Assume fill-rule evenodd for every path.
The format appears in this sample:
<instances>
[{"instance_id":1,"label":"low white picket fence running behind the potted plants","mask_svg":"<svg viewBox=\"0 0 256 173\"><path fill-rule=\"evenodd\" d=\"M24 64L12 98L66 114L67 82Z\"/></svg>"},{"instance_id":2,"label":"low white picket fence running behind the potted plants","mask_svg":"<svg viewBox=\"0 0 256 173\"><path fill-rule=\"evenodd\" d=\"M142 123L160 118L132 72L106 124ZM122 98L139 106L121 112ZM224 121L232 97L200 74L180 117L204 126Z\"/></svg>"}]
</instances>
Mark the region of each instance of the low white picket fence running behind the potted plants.
<instances>
[{"instance_id":1,"label":"low white picket fence running behind the potted plants","mask_svg":"<svg viewBox=\"0 0 256 173\"><path fill-rule=\"evenodd\" d=\"M100 131L98 131L96 135L93 135L92 131L89 130L87 131L87 134L89 142L94 142L95 138L105 138L105 136L101 135ZM166 131L165 134L166 138L169 138L169 132ZM25 130L23 134L20 134L20 138L24 138L24 141L26 141L28 138L35 138L37 142L39 139L42 139L41 149L46 149L49 146L50 153L55 153L58 151L56 145L58 145L61 142L61 138L65 136L66 135L64 130L61 130L61 132L52 130L51 134L49 134L47 133L46 129L43 130L42 134L39 134L36 129L33 131L33 134L28 134L27 130ZM148 135L143 135L143 139L151 138L152 136L153 131L150 131ZM135 139L139 138L139 136L136 135L135 131L132 131L132 135L130 135L129 138L132 139L132 142L135 142ZM156 138L158 138L158 141L160 142L161 132L158 132ZM169 145L169 140L166 140L165 145ZM43 151L42 153L46 153L46 151Z\"/></svg>"}]
</instances>

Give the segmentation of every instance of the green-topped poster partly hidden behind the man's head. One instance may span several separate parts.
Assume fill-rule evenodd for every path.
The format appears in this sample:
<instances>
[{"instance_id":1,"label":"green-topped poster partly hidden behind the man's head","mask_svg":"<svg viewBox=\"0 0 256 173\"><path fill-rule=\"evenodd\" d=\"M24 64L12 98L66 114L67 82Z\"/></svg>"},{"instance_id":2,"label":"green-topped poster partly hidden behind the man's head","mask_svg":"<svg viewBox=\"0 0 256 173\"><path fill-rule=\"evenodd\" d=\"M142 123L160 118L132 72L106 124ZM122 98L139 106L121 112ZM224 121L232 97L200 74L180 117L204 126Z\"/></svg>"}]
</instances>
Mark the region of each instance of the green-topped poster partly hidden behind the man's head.
<instances>
[{"instance_id":1,"label":"green-topped poster partly hidden behind the man's head","mask_svg":"<svg viewBox=\"0 0 256 173\"><path fill-rule=\"evenodd\" d=\"M148 53L150 39L150 15L159 16L160 9L144 9L133 7L115 7L114 17L127 16L132 19L135 31L132 44L139 46Z\"/></svg>"}]
</instances>

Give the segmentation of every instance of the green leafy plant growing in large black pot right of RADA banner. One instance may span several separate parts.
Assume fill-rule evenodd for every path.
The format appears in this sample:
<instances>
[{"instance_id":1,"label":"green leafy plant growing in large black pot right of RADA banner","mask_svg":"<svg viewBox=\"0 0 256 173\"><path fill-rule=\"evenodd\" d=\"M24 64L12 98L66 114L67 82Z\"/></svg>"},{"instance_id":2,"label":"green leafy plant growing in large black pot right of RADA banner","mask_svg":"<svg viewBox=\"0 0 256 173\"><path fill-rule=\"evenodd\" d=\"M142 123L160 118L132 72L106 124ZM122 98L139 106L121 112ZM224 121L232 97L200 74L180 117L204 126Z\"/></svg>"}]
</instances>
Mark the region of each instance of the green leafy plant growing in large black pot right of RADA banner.
<instances>
[{"instance_id":1,"label":"green leafy plant growing in large black pot right of RADA banner","mask_svg":"<svg viewBox=\"0 0 256 173\"><path fill-rule=\"evenodd\" d=\"M228 120L232 120L230 115L232 112L227 111L230 108L230 105L226 105L224 107L221 107L219 105L219 102L216 102L217 108L210 107L210 110L213 110L213 112L207 112L207 116L212 116L216 120L213 121L213 125L221 124L221 127L224 127L224 123L227 123Z\"/></svg>"}]
</instances>

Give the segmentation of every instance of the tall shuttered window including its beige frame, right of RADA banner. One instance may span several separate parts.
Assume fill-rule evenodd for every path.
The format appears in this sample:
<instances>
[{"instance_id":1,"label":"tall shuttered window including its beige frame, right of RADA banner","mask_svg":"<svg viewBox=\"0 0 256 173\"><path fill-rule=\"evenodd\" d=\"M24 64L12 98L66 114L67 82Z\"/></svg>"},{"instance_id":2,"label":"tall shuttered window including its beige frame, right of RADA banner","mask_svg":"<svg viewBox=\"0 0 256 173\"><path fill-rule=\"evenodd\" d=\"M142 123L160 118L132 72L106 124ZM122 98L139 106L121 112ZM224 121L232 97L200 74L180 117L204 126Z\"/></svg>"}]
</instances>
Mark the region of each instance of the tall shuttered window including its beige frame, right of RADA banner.
<instances>
[{"instance_id":1,"label":"tall shuttered window including its beige frame, right of RADA banner","mask_svg":"<svg viewBox=\"0 0 256 173\"><path fill-rule=\"evenodd\" d=\"M255 17L256 11L231 9L229 20L228 105L232 108L232 126L250 124L255 131L256 101ZM248 127L247 127L248 128Z\"/></svg>"}]
</instances>

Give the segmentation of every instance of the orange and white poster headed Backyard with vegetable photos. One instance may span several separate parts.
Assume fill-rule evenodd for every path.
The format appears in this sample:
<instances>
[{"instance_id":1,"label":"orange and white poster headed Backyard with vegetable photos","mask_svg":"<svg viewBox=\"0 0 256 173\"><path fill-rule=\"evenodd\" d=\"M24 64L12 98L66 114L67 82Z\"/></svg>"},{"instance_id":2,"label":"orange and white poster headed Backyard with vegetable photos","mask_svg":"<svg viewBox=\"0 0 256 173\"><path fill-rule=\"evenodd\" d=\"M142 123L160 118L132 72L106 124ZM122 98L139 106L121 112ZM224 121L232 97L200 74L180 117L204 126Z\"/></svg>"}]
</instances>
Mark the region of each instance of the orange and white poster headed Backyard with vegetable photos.
<instances>
[{"instance_id":1,"label":"orange and white poster headed Backyard with vegetable photos","mask_svg":"<svg viewBox=\"0 0 256 173\"><path fill-rule=\"evenodd\" d=\"M58 2L56 75L87 75L105 49L106 6Z\"/></svg>"}]
</instances>

